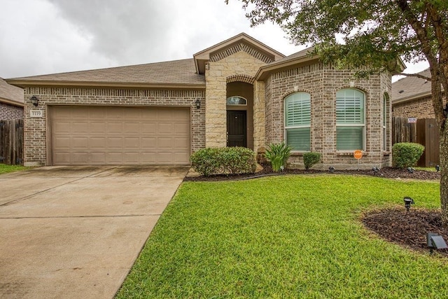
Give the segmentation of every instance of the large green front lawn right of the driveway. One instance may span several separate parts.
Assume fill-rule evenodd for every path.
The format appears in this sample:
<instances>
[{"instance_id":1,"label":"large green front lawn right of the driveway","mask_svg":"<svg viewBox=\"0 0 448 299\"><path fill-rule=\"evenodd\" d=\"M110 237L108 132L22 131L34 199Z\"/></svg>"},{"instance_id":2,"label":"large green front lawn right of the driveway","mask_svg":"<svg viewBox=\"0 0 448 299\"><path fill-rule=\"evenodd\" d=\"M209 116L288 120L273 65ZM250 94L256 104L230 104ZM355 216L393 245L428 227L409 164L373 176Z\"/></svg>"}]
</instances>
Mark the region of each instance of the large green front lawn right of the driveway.
<instances>
[{"instance_id":1,"label":"large green front lawn right of the driveway","mask_svg":"<svg viewBox=\"0 0 448 299\"><path fill-rule=\"evenodd\" d=\"M118 298L447 298L448 260L385 242L363 211L440 206L439 184L363 176L183 183Z\"/></svg>"}]
</instances>

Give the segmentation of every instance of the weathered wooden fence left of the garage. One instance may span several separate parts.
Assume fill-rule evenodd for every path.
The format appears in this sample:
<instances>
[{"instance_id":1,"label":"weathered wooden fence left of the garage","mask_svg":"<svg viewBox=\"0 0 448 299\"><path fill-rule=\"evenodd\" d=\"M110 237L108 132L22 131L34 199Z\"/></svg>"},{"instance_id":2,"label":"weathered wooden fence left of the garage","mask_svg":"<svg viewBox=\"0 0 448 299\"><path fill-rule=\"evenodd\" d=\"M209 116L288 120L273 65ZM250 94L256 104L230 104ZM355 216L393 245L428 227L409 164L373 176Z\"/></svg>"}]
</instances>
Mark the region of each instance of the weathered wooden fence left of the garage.
<instances>
[{"instance_id":1,"label":"weathered wooden fence left of the garage","mask_svg":"<svg viewBox=\"0 0 448 299\"><path fill-rule=\"evenodd\" d=\"M0 163L23 163L23 120L0 120Z\"/></svg>"}]
</instances>

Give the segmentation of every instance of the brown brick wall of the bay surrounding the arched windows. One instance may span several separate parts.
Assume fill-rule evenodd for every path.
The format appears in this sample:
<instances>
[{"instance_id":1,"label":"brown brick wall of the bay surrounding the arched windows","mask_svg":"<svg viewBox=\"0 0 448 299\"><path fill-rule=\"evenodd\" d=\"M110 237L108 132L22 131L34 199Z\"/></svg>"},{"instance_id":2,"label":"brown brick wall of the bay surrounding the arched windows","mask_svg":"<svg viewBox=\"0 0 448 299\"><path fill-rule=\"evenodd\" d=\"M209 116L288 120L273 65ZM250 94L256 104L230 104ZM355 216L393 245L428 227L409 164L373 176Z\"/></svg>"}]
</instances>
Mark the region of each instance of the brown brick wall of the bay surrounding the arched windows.
<instances>
[{"instance_id":1,"label":"brown brick wall of the bay surrounding the arched windows","mask_svg":"<svg viewBox=\"0 0 448 299\"><path fill-rule=\"evenodd\" d=\"M353 158L353 151L336 150L336 92L351 88L351 82L354 83L353 88L365 92L366 141L360 168L390 166L390 138L388 148L382 148L381 113L384 92L391 90L391 76L388 74L358 80L353 78L352 71L332 69L321 63L272 74L265 81L266 144L284 140L283 99L294 92L308 92L311 95L311 151L321 153L321 164L316 168L356 169L358 161ZM390 115L388 134L391 132ZM288 162L291 167L302 168L302 154L293 153Z\"/></svg>"}]
</instances>

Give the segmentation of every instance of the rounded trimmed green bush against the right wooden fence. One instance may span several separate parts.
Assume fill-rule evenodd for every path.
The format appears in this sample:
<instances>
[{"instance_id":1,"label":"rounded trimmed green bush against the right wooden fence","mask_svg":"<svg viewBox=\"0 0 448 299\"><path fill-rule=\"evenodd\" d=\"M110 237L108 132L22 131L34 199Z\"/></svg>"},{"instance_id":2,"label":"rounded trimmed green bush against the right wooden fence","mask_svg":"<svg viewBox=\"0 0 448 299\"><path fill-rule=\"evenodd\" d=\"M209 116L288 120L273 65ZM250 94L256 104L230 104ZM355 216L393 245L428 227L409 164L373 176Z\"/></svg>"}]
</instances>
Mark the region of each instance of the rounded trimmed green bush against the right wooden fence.
<instances>
[{"instance_id":1,"label":"rounded trimmed green bush against the right wooden fence","mask_svg":"<svg viewBox=\"0 0 448 299\"><path fill-rule=\"evenodd\" d=\"M400 142L392 146L392 163L394 167L407 168L416 165L425 147L411 142Z\"/></svg>"}]
</instances>

